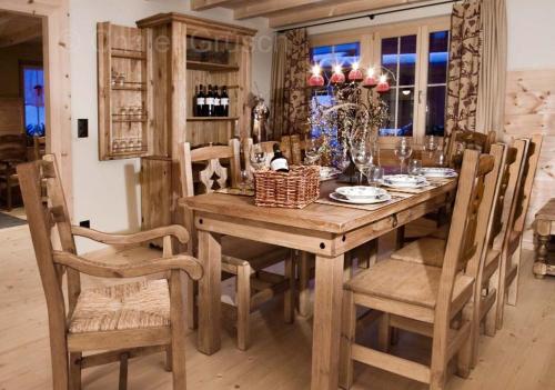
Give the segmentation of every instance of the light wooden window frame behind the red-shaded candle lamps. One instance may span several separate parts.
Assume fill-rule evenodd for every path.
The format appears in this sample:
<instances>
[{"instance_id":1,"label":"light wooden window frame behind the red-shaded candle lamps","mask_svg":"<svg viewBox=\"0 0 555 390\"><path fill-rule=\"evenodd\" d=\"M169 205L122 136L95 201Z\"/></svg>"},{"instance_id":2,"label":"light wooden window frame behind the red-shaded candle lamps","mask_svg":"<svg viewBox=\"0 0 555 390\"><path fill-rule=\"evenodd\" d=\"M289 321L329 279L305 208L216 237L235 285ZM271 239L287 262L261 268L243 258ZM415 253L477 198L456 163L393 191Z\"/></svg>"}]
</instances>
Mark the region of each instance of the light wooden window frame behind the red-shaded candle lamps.
<instances>
[{"instance_id":1,"label":"light wooden window frame behind the red-shaded candle lamps","mask_svg":"<svg viewBox=\"0 0 555 390\"><path fill-rule=\"evenodd\" d=\"M309 41L311 49L320 46L359 42L361 48L360 63L364 66L381 66L382 39L416 34L415 97L412 139L414 143L422 144L426 134L430 34L432 32L445 30L451 30L451 18L448 16L312 34L309 36ZM393 148L395 142L396 137L380 137L380 143L385 148Z\"/></svg>"}]
</instances>

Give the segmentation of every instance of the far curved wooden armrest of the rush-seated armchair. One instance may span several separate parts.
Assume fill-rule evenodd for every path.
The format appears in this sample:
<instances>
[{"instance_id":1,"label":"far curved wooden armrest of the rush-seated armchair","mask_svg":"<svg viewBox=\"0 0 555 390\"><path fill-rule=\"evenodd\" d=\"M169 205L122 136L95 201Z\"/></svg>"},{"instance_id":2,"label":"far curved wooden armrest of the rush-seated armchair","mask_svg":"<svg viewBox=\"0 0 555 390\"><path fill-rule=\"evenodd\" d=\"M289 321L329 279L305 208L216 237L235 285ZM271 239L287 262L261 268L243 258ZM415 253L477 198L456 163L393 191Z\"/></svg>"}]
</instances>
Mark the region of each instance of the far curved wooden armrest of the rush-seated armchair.
<instances>
[{"instance_id":1,"label":"far curved wooden armrest of the rush-seated armchair","mask_svg":"<svg viewBox=\"0 0 555 390\"><path fill-rule=\"evenodd\" d=\"M185 228L179 224L170 224L168 227L155 228L131 234L110 234L93 229L72 226L71 232L74 236L85 237L109 246L142 243L167 236L175 237L181 243L189 241L189 232Z\"/></svg>"}]
</instances>

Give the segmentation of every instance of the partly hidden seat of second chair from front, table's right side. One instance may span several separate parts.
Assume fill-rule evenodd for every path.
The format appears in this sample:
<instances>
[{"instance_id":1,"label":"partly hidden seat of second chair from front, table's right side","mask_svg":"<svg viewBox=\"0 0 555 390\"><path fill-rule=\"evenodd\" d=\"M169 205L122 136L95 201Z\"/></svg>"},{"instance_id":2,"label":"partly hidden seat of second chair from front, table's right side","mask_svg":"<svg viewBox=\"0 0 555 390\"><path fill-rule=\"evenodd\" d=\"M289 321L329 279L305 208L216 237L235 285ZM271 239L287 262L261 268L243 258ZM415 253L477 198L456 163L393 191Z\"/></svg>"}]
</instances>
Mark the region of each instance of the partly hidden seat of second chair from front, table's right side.
<instances>
[{"instance_id":1,"label":"partly hidden seat of second chair from front, table's right side","mask_svg":"<svg viewBox=\"0 0 555 390\"><path fill-rule=\"evenodd\" d=\"M391 258L425 266L442 267L445 257L445 240L424 237L394 251Z\"/></svg>"}]
</instances>

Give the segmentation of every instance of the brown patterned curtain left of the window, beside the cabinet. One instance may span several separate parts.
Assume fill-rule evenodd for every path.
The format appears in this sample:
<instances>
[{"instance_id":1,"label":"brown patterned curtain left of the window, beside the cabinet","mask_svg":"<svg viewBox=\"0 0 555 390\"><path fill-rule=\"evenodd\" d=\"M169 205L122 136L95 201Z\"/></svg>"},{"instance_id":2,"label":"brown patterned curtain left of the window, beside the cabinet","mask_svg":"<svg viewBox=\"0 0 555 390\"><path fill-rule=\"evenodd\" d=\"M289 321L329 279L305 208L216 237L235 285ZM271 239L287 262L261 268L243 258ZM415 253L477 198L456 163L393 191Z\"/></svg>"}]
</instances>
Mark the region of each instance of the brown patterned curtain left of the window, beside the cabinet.
<instances>
[{"instance_id":1,"label":"brown patterned curtain left of the window, beside the cabinet","mask_svg":"<svg viewBox=\"0 0 555 390\"><path fill-rule=\"evenodd\" d=\"M306 29L276 37L272 71L271 132L273 139L306 131L310 46Z\"/></svg>"}]
</instances>

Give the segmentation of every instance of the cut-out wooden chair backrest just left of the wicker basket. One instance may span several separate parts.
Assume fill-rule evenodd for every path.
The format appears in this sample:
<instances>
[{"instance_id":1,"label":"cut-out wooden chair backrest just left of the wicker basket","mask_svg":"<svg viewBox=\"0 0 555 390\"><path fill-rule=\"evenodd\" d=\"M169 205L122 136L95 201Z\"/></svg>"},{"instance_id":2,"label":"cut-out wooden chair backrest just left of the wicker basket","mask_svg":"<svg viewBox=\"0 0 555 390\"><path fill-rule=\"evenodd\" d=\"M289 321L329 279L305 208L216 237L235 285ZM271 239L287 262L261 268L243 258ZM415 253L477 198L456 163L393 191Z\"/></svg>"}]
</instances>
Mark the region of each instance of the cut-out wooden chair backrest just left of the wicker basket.
<instances>
[{"instance_id":1,"label":"cut-out wooden chair backrest just left of the wicker basket","mask_svg":"<svg viewBox=\"0 0 555 390\"><path fill-rule=\"evenodd\" d=\"M223 167L222 160L229 160L229 169ZM199 172L199 183L202 192L214 191L214 183L219 188L228 187L228 179L232 187L236 187L241 174L240 143L238 139L231 139L228 146L209 146L191 150L191 144L184 142L180 150L181 167L181 192L183 197L193 197L194 178L193 163L205 163L205 168Z\"/></svg>"}]
</instances>

